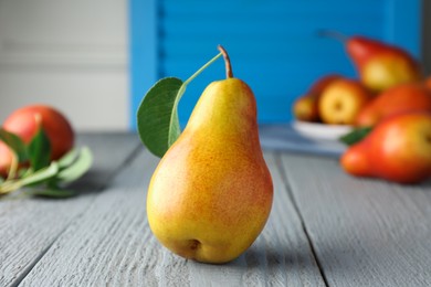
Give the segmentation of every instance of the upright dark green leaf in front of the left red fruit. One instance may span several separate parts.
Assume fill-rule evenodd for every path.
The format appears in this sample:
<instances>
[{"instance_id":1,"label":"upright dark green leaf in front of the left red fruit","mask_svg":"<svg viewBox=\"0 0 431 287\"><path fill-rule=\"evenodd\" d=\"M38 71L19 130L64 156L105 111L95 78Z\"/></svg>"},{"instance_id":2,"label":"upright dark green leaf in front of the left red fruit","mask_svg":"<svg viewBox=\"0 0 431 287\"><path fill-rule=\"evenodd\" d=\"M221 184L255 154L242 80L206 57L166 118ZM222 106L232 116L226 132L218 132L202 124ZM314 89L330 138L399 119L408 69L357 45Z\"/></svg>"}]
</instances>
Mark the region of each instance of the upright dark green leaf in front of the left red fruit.
<instances>
[{"instance_id":1,"label":"upright dark green leaf in front of the left red fruit","mask_svg":"<svg viewBox=\"0 0 431 287\"><path fill-rule=\"evenodd\" d=\"M42 127L29 145L30 164L34 171L45 168L51 161L51 144Z\"/></svg>"}]
</instances>

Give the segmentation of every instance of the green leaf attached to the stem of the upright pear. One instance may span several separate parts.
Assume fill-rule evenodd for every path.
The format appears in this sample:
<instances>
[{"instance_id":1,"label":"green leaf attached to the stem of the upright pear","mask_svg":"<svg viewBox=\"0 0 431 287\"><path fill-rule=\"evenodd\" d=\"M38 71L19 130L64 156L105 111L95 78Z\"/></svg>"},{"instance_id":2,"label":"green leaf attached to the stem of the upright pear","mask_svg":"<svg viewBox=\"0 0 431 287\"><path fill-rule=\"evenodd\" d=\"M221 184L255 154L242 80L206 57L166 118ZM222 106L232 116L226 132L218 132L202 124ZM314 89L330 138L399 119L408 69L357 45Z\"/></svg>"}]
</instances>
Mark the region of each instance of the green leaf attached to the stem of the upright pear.
<instances>
[{"instance_id":1,"label":"green leaf attached to the stem of the upright pear","mask_svg":"<svg viewBox=\"0 0 431 287\"><path fill-rule=\"evenodd\" d=\"M162 157L180 135L178 103L186 91L182 81L166 77L145 95L137 111L140 140L157 157Z\"/></svg>"}]
</instances>

